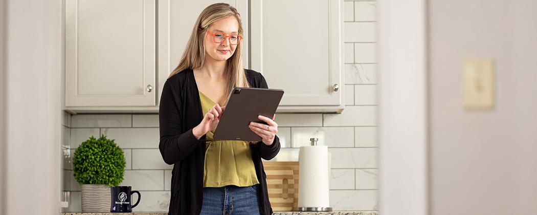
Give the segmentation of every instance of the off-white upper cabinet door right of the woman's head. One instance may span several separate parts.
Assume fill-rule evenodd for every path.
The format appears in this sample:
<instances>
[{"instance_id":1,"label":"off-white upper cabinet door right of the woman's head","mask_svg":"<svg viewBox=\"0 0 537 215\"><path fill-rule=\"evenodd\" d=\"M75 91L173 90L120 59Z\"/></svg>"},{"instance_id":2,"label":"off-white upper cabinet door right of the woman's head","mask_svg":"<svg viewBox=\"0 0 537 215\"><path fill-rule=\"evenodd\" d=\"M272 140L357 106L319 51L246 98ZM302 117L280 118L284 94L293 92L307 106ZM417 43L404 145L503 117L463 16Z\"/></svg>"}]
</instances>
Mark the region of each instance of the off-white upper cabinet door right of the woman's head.
<instances>
[{"instance_id":1,"label":"off-white upper cabinet door right of the woman's head","mask_svg":"<svg viewBox=\"0 0 537 215\"><path fill-rule=\"evenodd\" d=\"M280 107L343 108L342 2L251 1L250 66L285 91Z\"/></svg>"}]
</instances>

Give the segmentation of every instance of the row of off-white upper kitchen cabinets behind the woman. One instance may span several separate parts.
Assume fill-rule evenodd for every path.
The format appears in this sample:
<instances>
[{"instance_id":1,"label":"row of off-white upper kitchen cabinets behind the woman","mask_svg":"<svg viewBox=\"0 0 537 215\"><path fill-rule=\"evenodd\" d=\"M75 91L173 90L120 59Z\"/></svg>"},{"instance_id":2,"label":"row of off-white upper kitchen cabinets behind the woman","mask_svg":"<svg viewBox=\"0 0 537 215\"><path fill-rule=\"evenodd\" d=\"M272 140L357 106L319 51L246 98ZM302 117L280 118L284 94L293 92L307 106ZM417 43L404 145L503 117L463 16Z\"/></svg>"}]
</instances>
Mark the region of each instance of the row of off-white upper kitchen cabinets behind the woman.
<instances>
[{"instance_id":1,"label":"row of off-white upper kitchen cabinets behind the woman","mask_svg":"<svg viewBox=\"0 0 537 215\"><path fill-rule=\"evenodd\" d=\"M158 112L196 19L216 2L66 0L64 109ZM342 0L224 2L242 17L244 68L285 90L278 112L343 110Z\"/></svg>"}]
</instances>

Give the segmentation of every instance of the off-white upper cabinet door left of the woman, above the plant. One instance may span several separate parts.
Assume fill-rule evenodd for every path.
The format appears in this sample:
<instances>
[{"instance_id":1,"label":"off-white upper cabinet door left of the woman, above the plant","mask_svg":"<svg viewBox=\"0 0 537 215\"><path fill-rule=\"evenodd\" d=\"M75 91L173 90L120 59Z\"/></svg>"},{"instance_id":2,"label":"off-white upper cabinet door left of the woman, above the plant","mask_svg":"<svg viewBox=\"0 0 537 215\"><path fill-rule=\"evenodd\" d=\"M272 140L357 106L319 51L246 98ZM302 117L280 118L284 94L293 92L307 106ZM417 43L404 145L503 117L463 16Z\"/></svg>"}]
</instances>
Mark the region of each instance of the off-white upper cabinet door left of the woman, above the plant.
<instances>
[{"instance_id":1,"label":"off-white upper cabinet door left of the woman, above the plant","mask_svg":"<svg viewBox=\"0 0 537 215\"><path fill-rule=\"evenodd\" d=\"M66 1L66 106L155 106L155 0Z\"/></svg>"}]
</instances>

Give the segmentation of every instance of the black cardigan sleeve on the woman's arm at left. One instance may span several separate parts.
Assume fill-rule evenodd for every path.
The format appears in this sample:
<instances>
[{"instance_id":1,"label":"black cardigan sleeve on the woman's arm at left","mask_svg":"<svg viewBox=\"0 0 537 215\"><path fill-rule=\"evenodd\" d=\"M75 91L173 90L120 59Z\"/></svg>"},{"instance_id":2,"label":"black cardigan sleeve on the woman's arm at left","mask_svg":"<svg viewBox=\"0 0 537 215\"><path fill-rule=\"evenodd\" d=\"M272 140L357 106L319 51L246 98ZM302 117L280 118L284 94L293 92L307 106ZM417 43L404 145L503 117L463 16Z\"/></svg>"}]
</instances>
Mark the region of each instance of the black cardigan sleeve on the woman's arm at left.
<instances>
[{"instance_id":1,"label":"black cardigan sleeve on the woman's arm at left","mask_svg":"<svg viewBox=\"0 0 537 215\"><path fill-rule=\"evenodd\" d=\"M164 83L161 103L158 108L161 151L165 163L174 164L188 156L200 142L192 133L192 128L182 132L182 116L179 112L180 101L173 96L172 86L167 80Z\"/></svg>"}]
</instances>

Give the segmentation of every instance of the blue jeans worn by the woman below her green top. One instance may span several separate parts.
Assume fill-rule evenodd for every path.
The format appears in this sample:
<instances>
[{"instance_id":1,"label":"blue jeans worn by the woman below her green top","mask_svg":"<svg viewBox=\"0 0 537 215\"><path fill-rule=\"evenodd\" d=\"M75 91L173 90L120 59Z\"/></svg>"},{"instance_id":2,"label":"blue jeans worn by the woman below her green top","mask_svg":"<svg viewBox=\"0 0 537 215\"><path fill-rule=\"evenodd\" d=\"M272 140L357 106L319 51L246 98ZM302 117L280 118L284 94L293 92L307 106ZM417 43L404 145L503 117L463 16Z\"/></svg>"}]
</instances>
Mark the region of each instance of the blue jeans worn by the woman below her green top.
<instances>
[{"instance_id":1,"label":"blue jeans worn by the woman below her green top","mask_svg":"<svg viewBox=\"0 0 537 215\"><path fill-rule=\"evenodd\" d=\"M257 188L229 185L223 188L203 188L203 205L200 215L259 214Z\"/></svg>"}]
</instances>

